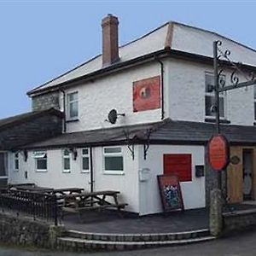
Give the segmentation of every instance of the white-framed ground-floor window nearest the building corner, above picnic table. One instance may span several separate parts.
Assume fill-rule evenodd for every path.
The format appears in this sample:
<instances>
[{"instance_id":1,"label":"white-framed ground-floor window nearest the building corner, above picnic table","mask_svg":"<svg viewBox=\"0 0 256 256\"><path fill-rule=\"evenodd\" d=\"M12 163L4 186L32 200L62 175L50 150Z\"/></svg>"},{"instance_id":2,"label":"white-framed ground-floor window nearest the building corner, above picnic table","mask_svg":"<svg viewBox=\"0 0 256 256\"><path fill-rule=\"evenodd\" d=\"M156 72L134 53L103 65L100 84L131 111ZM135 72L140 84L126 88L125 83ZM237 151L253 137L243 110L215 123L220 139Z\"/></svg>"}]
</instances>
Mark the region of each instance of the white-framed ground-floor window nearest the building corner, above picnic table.
<instances>
[{"instance_id":1,"label":"white-framed ground-floor window nearest the building corner, above picnic table","mask_svg":"<svg viewBox=\"0 0 256 256\"><path fill-rule=\"evenodd\" d=\"M123 173L124 160L121 147L103 148L104 171L107 173Z\"/></svg>"}]
</instances>

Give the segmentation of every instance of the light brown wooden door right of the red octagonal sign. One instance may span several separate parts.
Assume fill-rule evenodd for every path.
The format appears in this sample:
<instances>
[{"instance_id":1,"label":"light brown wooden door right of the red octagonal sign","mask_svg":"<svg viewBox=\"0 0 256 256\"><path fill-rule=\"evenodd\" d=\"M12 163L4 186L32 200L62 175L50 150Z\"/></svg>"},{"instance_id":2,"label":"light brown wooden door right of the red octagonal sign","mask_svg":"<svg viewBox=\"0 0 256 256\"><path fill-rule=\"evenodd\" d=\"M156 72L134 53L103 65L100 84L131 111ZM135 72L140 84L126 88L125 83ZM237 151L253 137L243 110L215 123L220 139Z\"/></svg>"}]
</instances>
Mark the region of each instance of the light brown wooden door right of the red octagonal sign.
<instances>
[{"instance_id":1,"label":"light brown wooden door right of the red octagonal sign","mask_svg":"<svg viewBox=\"0 0 256 256\"><path fill-rule=\"evenodd\" d=\"M228 201L230 203L237 203L243 201L242 192L242 148L231 147L230 158L232 156L238 156L240 162L237 165L230 165L227 167L227 189L228 189Z\"/></svg>"}]
</instances>

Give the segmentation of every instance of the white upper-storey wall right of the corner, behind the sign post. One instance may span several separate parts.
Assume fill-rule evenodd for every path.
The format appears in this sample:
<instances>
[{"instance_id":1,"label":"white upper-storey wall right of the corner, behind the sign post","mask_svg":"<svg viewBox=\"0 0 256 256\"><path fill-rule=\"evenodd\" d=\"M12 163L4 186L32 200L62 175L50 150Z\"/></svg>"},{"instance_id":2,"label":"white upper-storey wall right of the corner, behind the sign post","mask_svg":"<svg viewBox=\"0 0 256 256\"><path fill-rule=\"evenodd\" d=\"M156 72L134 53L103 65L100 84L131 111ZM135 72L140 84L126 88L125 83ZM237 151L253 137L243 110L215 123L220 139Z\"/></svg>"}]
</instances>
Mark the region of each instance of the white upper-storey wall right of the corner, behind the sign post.
<instances>
[{"instance_id":1,"label":"white upper-storey wall right of the corner, behind the sign post","mask_svg":"<svg viewBox=\"0 0 256 256\"><path fill-rule=\"evenodd\" d=\"M174 120L205 121L205 73L212 67L195 62L169 60L169 116ZM230 72L226 85L230 85ZM244 81L240 78L240 81ZM232 125L253 125L253 86L226 92L226 117Z\"/></svg>"}]
</instances>

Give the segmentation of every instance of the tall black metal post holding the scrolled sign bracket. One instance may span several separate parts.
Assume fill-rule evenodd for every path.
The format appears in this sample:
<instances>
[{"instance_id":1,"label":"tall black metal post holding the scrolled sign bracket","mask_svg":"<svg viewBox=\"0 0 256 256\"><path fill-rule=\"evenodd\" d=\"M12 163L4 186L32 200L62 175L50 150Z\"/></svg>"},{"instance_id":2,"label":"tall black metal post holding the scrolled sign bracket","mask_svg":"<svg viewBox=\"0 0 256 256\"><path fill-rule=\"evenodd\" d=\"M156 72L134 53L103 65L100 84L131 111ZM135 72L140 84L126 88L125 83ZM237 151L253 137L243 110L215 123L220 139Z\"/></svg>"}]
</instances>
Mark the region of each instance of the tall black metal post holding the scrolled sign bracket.
<instances>
[{"instance_id":1,"label":"tall black metal post holding the scrolled sign bracket","mask_svg":"<svg viewBox=\"0 0 256 256\"><path fill-rule=\"evenodd\" d=\"M214 74L214 92L215 92L215 122L216 133L220 133L219 128L219 84L218 84L218 41L213 42L213 74ZM221 190L221 172L218 172L218 189Z\"/></svg>"}]
</instances>

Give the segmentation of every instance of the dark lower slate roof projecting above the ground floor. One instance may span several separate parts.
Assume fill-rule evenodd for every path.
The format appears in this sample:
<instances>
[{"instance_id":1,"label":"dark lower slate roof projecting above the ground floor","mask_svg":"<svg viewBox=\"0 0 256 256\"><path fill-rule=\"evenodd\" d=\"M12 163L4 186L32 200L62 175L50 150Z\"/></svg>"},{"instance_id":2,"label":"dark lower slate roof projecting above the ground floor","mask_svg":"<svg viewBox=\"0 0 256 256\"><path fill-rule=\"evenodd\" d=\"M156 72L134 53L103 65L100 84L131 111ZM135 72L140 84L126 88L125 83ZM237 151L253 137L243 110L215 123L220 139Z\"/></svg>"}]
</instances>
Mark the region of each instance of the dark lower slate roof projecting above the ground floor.
<instances>
[{"instance_id":1,"label":"dark lower slate roof projecting above the ground floor","mask_svg":"<svg viewBox=\"0 0 256 256\"><path fill-rule=\"evenodd\" d=\"M44 142L26 145L24 148L61 148L126 144L127 137L125 137L125 132L129 136L130 143L145 143L150 134L149 143L152 144L205 145L210 137L212 137L214 131L213 124L165 119L158 123L62 134ZM221 131L230 143L243 145L256 144L256 127L254 126L221 125Z\"/></svg>"}]
</instances>

